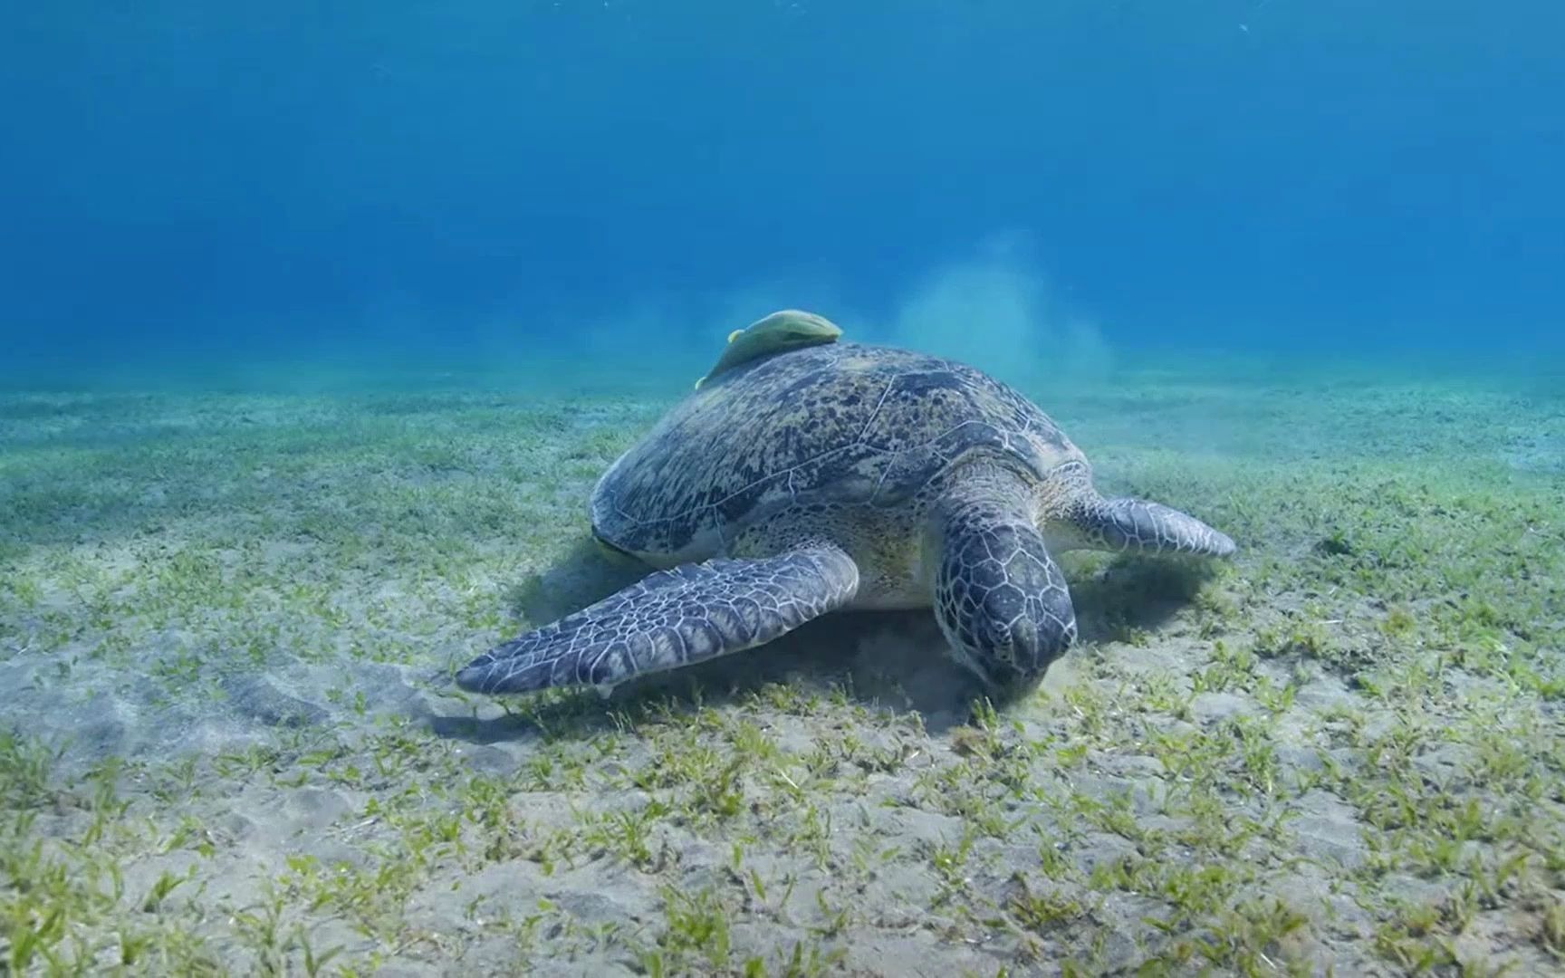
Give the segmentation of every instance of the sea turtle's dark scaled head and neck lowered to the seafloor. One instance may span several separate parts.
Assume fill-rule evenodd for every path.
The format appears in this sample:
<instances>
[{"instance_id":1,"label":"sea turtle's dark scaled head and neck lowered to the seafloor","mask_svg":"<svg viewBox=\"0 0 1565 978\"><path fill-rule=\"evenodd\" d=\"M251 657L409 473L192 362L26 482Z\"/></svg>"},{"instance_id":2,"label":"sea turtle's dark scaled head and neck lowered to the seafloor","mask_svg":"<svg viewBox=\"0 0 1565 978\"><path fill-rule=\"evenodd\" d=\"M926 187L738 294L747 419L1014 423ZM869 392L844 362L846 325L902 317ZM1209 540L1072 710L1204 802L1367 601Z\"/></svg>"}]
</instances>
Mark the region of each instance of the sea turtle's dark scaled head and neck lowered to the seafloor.
<instances>
[{"instance_id":1,"label":"sea turtle's dark scaled head and neck lowered to the seafloor","mask_svg":"<svg viewBox=\"0 0 1565 978\"><path fill-rule=\"evenodd\" d=\"M956 660L1002 698L1034 687L1077 637L1036 510L1019 474L975 466L945 490L930 526L934 617Z\"/></svg>"}]
</instances>

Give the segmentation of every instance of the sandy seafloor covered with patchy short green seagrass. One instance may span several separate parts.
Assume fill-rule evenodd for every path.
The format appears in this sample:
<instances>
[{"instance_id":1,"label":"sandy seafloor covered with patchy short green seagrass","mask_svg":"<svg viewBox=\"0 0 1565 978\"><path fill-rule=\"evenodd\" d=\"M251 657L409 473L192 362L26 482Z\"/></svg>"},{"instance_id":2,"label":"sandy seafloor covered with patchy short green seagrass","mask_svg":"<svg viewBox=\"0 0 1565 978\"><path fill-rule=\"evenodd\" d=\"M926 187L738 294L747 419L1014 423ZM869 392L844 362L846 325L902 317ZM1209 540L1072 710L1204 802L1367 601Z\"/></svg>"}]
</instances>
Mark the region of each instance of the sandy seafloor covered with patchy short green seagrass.
<instances>
[{"instance_id":1,"label":"sandy seafloor covered with patchy short green seagrass","mask_svg":"<svg viewBox=\"0 0 1565 978\"><path fill-rule=\"evenodd\" d=\"M1069 557L1000 710L926 615L457 695L635 576L585 498L679 388L0 396L0 970L1565 969L1565 383L1030 390L1241 552Z\"/></svg>"}]
</instances>

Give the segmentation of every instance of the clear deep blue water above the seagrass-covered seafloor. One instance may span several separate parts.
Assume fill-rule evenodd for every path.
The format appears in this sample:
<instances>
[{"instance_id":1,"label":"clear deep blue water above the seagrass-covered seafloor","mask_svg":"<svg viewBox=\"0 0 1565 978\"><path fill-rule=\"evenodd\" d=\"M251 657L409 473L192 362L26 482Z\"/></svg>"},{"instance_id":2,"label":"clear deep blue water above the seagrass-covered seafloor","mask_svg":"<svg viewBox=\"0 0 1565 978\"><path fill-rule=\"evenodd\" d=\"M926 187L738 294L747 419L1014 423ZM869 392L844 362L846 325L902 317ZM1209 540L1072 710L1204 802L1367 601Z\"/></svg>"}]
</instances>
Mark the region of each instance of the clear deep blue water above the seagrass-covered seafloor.
<instances>
[{"instance_id":1,"label":"clear deep blue water above the seagrass-covered seafloor","mask_svg":"<svg viewBox=\"0 0 1565 978\"><path fill-rule=\"evenodd\" d=\"M1113 351L1565 346L1554 0L5 20L11 379L668 343L706 361L782 305L870 333L934 308L973 344L1009 316L1006 336L1086 322Z\"/></svg>"}]
</instances>

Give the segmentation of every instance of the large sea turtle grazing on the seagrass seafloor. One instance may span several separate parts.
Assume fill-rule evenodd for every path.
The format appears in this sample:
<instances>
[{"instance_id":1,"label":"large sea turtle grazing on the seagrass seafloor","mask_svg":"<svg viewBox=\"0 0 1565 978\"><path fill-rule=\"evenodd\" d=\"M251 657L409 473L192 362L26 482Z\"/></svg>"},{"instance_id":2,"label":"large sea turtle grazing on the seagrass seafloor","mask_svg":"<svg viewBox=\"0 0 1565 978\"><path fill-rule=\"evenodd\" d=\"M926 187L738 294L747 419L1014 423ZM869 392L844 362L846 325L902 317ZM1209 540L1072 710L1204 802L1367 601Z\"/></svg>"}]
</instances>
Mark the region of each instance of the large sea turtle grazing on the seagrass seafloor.
<instances>
[{"instance_id":1,"label":"large sea turtle grazing on the seagrass seafloor","mask_svg":"<svg viewBox=\"0 0 1565 978\"><path fill-rule=\"evenodd\" d=\"M953 657L1008 696L1077 635L1053 554L1235 549L1178 510L1102 498L1081 451L1005 383L858 343L714 372L603 474L590 515L653 573L473 659L459 687L607 695L833 610L933 607Z\"/></svg>"}]
</instances>

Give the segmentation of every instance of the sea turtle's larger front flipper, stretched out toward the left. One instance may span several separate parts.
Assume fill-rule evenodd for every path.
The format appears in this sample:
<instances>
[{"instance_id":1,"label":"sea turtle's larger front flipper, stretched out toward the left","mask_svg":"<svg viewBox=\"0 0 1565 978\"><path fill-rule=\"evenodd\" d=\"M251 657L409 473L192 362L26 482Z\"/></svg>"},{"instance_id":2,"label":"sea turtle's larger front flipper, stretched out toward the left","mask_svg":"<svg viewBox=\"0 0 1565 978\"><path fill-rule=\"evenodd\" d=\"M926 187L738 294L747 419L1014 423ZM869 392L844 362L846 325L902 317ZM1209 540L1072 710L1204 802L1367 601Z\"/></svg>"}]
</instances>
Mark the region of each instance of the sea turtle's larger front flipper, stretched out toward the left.
<instances>
[{"instance_id":1,"label":"sea turtle's larger front flipper, stretched out toward the left","mask_svg":"<svg viewBox=\"0 0 1565 978\"><path fill-rule=\"evenodd\" d=\"M484 653L457 673L476 693L595 685L728 656L853 599L859 568L829 543L775 557L657 571L552 624Z\"/></svg>"}]
</instances>

